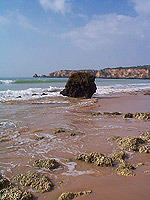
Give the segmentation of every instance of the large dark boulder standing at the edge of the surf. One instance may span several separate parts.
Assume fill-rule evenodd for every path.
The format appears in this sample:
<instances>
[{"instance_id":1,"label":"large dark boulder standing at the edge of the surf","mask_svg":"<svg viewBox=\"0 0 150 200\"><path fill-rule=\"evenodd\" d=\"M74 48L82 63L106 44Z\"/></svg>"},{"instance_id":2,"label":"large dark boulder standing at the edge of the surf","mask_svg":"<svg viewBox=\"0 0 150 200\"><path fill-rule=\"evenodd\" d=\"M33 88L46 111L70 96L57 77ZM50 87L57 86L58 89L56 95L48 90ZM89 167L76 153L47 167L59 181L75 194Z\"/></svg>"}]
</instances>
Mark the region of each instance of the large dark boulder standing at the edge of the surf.
<instances>
[{"instance_id":1,"label":"large dark boulder standing at the edge of the surf","mask_svg":"<svg viewBox=\"0 0 150 200\"><path fill-rule=\"evenodd\" d=\"M85 72L77 72L70 76L65 89L60 92L64 96L74 98L91 98L96 92L95 77Z\"/></svg>"}]
</instances>

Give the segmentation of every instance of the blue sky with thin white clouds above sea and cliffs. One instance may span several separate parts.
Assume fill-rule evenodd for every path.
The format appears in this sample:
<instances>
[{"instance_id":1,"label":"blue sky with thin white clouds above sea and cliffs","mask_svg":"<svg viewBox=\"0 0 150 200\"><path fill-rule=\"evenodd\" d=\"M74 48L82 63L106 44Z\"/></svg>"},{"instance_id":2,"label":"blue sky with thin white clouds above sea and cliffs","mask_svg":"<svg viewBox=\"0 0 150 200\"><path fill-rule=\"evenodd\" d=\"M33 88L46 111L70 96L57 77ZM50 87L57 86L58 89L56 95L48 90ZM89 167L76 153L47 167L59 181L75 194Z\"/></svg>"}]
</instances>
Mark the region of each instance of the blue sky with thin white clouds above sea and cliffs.
<instances>
[{"instance_id":1,"label":"blue sky with thin white clouds above sea and cliffs","mask_svg":"<svg viewBox=\"0 0 150 200\"><path fill-rule=\"evenodd\" d=\"M0 77L150 64L150 0L0 0Z\"/></svg>"}]
</instances>

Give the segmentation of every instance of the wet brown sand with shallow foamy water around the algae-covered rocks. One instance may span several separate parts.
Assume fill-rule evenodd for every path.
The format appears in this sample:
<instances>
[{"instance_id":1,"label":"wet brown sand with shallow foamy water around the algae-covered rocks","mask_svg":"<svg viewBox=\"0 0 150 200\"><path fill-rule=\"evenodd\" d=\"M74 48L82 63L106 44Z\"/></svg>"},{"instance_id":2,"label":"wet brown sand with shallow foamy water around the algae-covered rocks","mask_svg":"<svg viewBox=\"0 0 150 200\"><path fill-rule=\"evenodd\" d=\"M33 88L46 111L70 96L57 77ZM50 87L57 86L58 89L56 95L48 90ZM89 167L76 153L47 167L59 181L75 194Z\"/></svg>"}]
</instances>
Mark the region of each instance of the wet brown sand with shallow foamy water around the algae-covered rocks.
<instances>
[{"instance_id":1,"label":"wet brown sand with shallow foamy water around the algae-covered rocks","mask_svg":"<svg viewBox=\"0 0 150 200\"><path fill-rule=\"evenodd\" d=\"M32 192L35 199L56 200L64 191L92 190L92 194L76 199L86 200L141 200L149 199L150 154L129 153L128 163L136 166L134 177L116 174L112 167L96 167L73 159L80 153L100 152L106 155L118 149L107 138L138 136L150 131L150 121L123 119L122 116L93 116L97 112L150 112L150 96L144 92L134 94L95 96L90 100L60 98L3 104L5 121L12 122L3 129L1 137L1 173L10 178L18 173L38 171L52 179L50 192ZM42 100L43 101L43 100ZM14 124L13 124L14 123ZM54 134L56 128L67 132ZM75 136L69 133L75 132ZM35 140L43 136L42 140ZM55 158L61 166L55 170L37 169L34 160ZM12 179L11 179L12 180Z\"/></svg>"}]
</instances>

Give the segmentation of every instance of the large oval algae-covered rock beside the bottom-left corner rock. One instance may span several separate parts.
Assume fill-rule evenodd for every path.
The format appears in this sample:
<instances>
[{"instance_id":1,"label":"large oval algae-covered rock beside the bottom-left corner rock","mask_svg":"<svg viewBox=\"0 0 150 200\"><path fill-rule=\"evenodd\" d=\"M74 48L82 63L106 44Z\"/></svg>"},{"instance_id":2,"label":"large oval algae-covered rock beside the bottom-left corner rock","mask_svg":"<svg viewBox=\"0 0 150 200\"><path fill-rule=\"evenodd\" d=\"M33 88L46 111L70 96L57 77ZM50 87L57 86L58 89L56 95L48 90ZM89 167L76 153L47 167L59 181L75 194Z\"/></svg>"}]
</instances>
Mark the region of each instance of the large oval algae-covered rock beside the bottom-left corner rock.
<instances>
[{"instance_id":1,"label":"large oval algae-covered rock beside the bottom-left corner rock","mask_svg":"<svg viewBox=\"0 0 150 200\"><path fill-rule=\"evenodd\" d=\"M23 186L29 186L38 192L50 191L53 187L52 182L46 176L39 173L18 174L14 177Z\"/></svg>"}]
</instances>

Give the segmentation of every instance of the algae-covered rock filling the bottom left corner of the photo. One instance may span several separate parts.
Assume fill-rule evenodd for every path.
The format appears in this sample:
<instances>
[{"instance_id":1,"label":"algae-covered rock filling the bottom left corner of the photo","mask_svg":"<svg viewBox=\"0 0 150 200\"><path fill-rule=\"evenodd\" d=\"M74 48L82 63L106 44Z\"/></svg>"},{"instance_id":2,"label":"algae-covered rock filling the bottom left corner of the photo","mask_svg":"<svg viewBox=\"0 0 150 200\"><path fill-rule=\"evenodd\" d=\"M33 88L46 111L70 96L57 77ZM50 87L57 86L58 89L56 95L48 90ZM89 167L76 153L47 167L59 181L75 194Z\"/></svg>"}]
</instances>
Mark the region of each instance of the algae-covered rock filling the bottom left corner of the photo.
<instances>
[{"instance_id":1,"label":"algae-covered rock filling the bottom left corner of the photo","mask_svg":"<svg viewBox=\"0 0 150 200\"><path fill-rule=\"evenodd\" d=\"M1 200L32 200L28 191L22 191L14 186L8 179L0 176L0 199Z\"/></svg>"}]
</instances>

